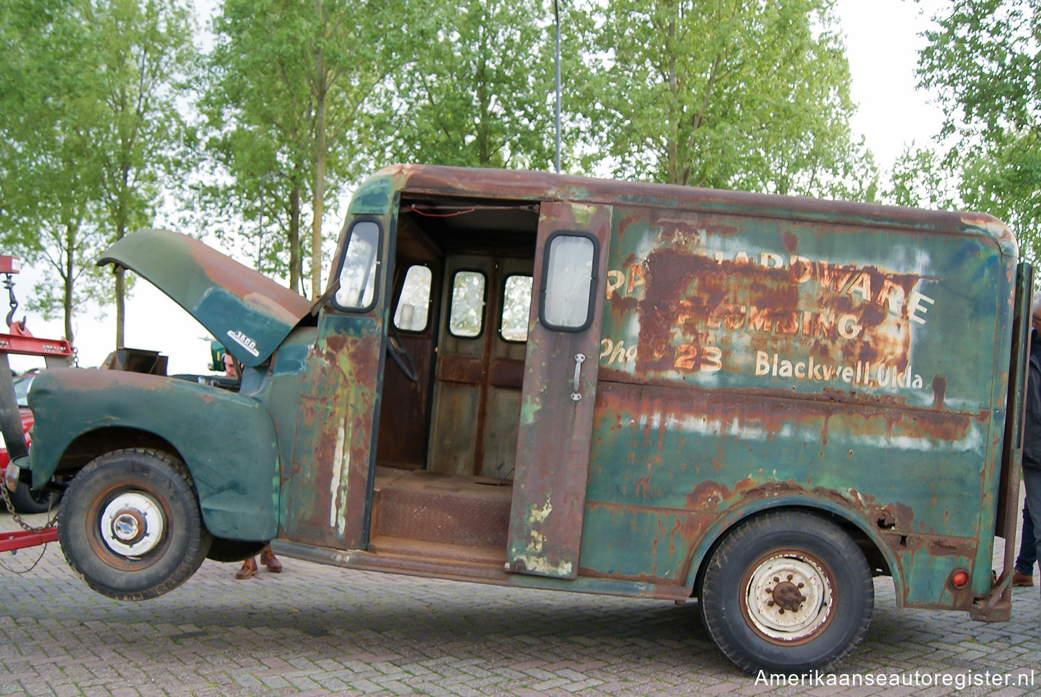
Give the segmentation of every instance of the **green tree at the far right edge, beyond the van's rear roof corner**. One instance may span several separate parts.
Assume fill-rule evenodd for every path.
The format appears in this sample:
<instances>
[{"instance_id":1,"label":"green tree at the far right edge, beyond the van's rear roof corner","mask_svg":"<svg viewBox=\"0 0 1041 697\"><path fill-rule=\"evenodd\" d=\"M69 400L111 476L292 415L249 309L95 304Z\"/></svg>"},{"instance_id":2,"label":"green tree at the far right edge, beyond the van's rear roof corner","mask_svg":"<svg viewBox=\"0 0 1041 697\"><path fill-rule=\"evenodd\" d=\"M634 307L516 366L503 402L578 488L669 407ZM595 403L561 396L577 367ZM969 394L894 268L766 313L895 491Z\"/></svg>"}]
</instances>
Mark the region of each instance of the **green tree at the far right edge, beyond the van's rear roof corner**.
<instances>
[{"instance_id":1,"label":"green tree at the far right edge, beyond the van's rear roof corner","mask_svg":"<svg viewBox=\"0 0 1041 697\"><path fill-rule=\"evenodd\" d=\"M1041 0L956 0L934 18L918 61L947 119L948 167L967 207L1012 225L1041 251Z\"/></svg>"}]
</instances>

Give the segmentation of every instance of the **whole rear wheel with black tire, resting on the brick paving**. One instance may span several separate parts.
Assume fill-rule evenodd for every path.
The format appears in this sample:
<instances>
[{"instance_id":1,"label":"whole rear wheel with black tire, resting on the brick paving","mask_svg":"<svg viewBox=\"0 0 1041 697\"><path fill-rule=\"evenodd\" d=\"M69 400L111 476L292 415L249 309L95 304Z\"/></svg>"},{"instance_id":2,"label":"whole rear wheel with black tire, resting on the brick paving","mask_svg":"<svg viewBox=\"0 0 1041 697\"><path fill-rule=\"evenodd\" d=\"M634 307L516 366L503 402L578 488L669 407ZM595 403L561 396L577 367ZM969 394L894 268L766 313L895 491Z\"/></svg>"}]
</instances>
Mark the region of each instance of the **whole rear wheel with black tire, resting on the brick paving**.
<instances>
[{"instance_id":1,"label":"whole rear wheel with black tire, resting on the brick paving","mask_svg":"<svg viewBox=\"0 0 1041 697\"><path fill-rule=\"evenodd\" d=\"M842 528L785 511L727 534L705 568L699 604L712 640L742 670L829 671L867 633L874 586Z\"/></svg>"}]
</instances>

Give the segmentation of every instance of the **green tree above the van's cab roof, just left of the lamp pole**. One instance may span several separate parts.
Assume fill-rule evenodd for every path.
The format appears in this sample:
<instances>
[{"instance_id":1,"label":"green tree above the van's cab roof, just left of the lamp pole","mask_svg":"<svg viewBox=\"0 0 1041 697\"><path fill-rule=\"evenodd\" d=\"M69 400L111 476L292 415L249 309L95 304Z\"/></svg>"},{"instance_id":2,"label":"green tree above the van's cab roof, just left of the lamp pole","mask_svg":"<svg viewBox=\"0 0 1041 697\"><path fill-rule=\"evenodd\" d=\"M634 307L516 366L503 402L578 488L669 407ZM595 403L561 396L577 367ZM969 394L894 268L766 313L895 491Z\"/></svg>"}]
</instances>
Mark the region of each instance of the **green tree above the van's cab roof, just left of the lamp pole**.
<instances>
[{"instance_id":1,"label":"green tree above the van's cab roof, just left of the lamp pole","mask_svg":"<svg viewBox=\"0 0 1041 697\"><path fill-rule=\"evenodd\" d=\"M383 160L551 169L552 7L413 0L406 11L404 59L371 115Z\"/></svg>"}]
</instances>

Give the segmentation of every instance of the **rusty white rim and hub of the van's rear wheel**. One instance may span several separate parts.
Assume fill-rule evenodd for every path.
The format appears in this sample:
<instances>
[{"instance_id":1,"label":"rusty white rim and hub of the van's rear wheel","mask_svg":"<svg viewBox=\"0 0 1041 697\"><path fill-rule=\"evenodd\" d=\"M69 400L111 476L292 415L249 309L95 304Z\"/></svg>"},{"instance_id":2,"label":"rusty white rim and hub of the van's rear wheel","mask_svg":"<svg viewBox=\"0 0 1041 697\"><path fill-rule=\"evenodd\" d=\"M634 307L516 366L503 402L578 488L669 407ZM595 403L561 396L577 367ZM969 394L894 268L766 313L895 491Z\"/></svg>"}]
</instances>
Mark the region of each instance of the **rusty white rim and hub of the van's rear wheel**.
<instances>
[{"instance_id":1,"label":"rusty white rim and hub of the van's rear wheel","mask_svg":"<svg viewBox=\"0 0 1041 697\"><path fill-rule=\"evenodd\" d=\"M828 574L810 557L779 553L753 571L745 590L748 619L769 639L794 642L819 629L832 611Z\"/></svg>"}]
</instances>

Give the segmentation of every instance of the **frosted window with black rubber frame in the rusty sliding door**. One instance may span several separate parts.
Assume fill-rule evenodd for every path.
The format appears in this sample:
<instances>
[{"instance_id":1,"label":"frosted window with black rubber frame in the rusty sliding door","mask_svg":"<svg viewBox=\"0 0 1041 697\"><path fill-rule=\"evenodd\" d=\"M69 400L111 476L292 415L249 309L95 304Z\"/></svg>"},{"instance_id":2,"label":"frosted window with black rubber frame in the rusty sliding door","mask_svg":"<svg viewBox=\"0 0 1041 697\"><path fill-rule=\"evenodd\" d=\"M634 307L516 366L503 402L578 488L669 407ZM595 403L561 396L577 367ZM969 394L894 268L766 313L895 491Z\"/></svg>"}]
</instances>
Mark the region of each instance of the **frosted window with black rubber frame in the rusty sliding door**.
<instances>
[{"instance_id":1,"label":"frosted window with black rubber frame in the rusty sliding door","mask_svg":"<svg viewBox=\"0 0 1041 697\"><path fill-rule=\"evenodd\" d=\"M582 331L592 321L596 291L596 241L579 232L554 232L547 242L539 314L549 329Z\"/></svg>"}]
</instances>

